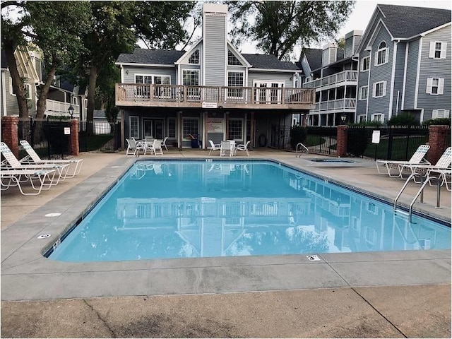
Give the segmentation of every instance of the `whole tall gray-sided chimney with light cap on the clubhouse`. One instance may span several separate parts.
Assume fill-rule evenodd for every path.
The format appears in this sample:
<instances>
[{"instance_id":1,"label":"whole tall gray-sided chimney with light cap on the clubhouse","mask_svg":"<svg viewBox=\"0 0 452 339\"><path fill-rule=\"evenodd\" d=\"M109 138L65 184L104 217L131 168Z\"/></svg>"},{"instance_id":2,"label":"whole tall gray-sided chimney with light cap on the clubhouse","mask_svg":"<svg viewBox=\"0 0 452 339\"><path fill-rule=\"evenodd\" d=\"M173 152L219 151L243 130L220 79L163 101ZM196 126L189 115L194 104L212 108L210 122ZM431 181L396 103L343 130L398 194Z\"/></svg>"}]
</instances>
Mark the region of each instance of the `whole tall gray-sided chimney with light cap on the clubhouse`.
<instances>
[{"instance_id":1,"label":"whole tall gray-sided chimney with light cap on the clubhouse","mask_svg":"<svg viewBox=\"0 0 452 339\"><path fill-rule=\"evenodd\" d=\"M227 5L203 6L203 69L202 84L227 85Z\"/></svg>"}]
</instances>

